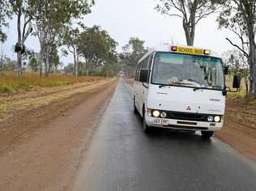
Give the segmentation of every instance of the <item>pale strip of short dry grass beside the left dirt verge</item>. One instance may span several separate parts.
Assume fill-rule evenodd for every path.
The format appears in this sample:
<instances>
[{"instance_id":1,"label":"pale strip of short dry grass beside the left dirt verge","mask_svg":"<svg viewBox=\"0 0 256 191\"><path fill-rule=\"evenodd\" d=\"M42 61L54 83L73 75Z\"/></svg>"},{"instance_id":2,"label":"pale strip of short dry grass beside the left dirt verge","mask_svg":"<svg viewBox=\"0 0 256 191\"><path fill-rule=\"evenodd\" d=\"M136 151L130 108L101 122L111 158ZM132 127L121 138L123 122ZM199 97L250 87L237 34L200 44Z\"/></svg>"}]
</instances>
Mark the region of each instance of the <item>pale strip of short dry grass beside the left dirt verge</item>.
<instances>
[{"instance_id":1,"label":"pale strip of short dry grass beside the left dirt verge","mask_svg":"<svg viewBox=\"0 0 256 191\"><path fill-rule=\"evenodd\" d=\"M15 93L11 96L0 96L0 122L14 117L16 112L29 111L75 94L92 91L98 87L107 86L115 80L98 79L93 82L83 82L65 87L40 88L39 90L25 91L22 94Z\"/></svg>"}]
</instances>

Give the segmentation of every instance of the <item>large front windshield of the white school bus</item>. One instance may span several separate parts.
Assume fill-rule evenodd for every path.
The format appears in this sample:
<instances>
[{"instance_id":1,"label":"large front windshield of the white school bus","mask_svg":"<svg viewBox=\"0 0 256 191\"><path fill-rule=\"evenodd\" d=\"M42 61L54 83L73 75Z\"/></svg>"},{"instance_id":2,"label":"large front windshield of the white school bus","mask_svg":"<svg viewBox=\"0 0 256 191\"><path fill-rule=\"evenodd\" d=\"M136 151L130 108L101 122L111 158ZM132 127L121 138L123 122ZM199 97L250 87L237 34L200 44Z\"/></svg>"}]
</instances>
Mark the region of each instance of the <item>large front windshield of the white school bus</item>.
<instances>
[{"instance_id":1,"label":"large front windshield of the white school bus","mask_svg":"<svg viewBox=\"0 0 256 191\"><path fill-rule=\"evenodd\" d=\"M156 53L151 83L224 89L220 58L180 53Z\"/></svg>"}]
</instances>

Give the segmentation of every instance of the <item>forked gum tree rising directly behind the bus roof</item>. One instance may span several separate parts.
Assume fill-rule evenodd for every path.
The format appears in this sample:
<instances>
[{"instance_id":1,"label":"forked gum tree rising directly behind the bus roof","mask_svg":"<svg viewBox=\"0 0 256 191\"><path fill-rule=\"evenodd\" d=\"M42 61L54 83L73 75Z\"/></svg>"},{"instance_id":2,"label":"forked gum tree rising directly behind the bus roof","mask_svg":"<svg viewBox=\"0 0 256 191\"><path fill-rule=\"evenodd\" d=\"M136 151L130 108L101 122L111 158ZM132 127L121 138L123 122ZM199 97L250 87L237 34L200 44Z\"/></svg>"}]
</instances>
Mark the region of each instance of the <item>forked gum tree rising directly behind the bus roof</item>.
<instances>
[{"instance_id":1,"label":"forked gum tree rising directly behind the bus roof","mask_svg":"<svg viewBox=\"0 0 256 191\"><path fill-rule=\"evenodd\" d=\"M182 19L187 45L194 45L196 25L201 19L214 13L219 6L215 0L157 0L156 10L163 15Z\"/></svg>"}]
</instances>

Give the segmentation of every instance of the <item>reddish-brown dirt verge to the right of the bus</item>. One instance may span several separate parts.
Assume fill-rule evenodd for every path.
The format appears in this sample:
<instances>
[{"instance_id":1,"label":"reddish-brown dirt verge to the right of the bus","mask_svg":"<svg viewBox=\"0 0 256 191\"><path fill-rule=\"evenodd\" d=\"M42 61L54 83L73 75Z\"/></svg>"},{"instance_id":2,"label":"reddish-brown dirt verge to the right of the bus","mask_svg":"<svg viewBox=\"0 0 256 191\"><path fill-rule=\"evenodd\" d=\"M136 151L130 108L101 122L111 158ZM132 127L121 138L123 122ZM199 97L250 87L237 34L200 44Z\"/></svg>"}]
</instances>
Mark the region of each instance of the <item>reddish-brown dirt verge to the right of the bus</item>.
<instances>
[{"instance_id":1,"label":"reddish-brown dirt verge to the right of the bus","mask_svg":"<svg viewBox=\"0 0 256 191\"><path fill-rule=\"evenodd\" d=\"M256 161L256 100L228 100L224 128L215 137Z\"/></svg>"}]
</instances>

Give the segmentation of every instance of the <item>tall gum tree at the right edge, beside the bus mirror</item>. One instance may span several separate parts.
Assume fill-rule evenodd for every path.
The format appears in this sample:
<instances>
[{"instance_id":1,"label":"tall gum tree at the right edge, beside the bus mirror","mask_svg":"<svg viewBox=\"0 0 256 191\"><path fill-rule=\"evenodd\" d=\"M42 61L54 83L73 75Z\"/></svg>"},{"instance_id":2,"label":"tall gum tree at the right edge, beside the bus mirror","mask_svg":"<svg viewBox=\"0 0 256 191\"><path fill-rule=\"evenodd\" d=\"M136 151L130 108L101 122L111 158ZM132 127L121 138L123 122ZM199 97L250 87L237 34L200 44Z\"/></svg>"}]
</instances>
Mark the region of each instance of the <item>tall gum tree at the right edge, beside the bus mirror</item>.
<instances>
[{"instance_id":1,"label":"tall gum tree at the right edge, beside the bus mirror","mask_svg":"<svg viewBox=\"0 0 256 191\"><path fill-rule=\"evenodd\" d=\"M248 57L250 66L250 92L256 96L256 0L227 0L221 3L224 11L220 14L220 26L229 28L241 40L236 45Z\"/></svg>"}]
</instances>

